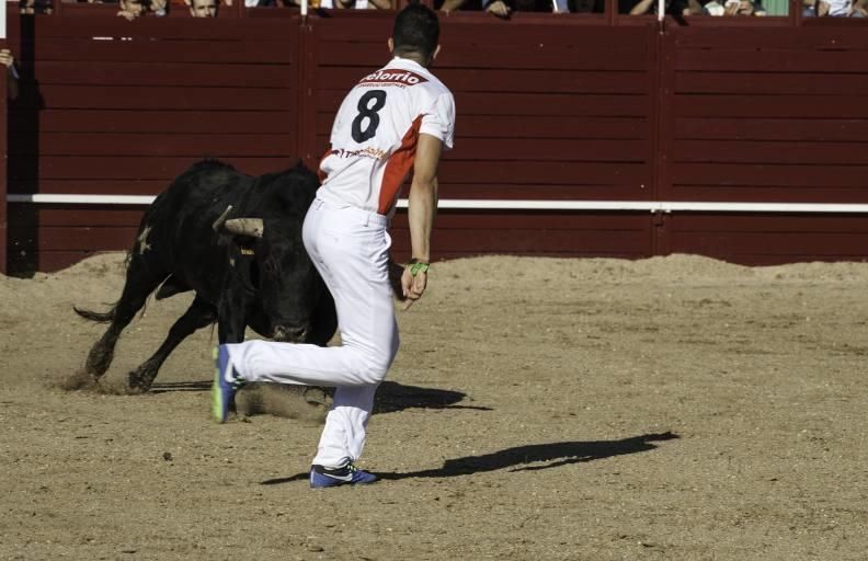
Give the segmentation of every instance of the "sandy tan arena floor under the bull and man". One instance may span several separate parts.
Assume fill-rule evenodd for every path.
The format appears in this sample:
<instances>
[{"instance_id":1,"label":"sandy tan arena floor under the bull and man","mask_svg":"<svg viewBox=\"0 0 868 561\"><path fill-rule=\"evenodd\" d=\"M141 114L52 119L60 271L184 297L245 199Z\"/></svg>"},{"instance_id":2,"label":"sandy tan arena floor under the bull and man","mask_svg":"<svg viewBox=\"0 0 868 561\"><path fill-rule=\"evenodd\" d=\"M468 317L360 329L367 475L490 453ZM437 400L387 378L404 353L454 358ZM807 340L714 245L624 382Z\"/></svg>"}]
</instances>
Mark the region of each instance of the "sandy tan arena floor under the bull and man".
<instances>
[{"instance_id":1,"label":"sandy tan arena floor under the bull and man","mask_svg":"<svg viewBox=\"0 0 868 561\"><path fill-rule=\"evenodd\" d=\"M313 492L319 411L209 421L210 330L146 396L58 387L122 260L0 277L2 560L868 556L868 264L438 263L370 424L385 481ZM106 388L189 301L150 304Z\"/></svg>"}]
</instances>

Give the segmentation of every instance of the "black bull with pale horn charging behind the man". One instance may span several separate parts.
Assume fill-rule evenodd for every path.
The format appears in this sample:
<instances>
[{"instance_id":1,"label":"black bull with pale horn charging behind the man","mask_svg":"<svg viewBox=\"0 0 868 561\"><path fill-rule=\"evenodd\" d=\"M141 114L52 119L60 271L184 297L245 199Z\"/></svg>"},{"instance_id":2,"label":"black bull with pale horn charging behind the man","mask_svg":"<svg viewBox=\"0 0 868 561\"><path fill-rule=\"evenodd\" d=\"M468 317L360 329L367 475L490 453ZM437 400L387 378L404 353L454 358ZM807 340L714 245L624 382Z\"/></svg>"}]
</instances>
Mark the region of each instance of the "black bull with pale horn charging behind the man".
<instances>
[{"instance_id":1,"label":"black bull with pale horn charging behind the man","mask_svg":"<svg viewBox=\"0 0 868 561\"><path fill-rule=\"evenodd\" d=\"M105 374L121 332L155 290L158 300L189 290L195 297L153 356L129 374L134 391L147 391L181 341L215 321L220 343L243 341L250 327L277 341L326 345L336 328L334 301L301 242L318 186L300 163L252 178L206 160L179 175L141 219L121 299L105 313L76 308L110 323L85 373L94 380Z\"/></svg>"}]
</instances>

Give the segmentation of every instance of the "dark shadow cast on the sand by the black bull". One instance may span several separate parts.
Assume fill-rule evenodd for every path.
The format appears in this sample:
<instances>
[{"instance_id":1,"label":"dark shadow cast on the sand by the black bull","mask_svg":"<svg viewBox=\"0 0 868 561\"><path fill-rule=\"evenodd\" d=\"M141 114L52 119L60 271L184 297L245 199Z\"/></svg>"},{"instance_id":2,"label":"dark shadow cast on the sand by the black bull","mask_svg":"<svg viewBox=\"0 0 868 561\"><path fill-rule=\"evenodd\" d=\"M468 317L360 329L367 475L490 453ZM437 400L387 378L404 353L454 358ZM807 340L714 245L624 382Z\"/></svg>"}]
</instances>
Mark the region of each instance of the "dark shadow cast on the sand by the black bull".
<instances>
[{"instance_id":1,"label":"dark shadow cast on the sand by the black bull","mask_svg":"<svg viewBox=\"0 0 868 561\"><path fill-rule=\"evenodd\" d=\"M210 380L157 382L151 387L150 392L208 391L210 383ZM384 381L377 390L377 397L374 401L374 413L397 413L406 409L472 409L491 411L491 408L482 405L461 404L460 402L465 398L467 398L467 393L462 391Z\"/></svg>"}]
</instances>

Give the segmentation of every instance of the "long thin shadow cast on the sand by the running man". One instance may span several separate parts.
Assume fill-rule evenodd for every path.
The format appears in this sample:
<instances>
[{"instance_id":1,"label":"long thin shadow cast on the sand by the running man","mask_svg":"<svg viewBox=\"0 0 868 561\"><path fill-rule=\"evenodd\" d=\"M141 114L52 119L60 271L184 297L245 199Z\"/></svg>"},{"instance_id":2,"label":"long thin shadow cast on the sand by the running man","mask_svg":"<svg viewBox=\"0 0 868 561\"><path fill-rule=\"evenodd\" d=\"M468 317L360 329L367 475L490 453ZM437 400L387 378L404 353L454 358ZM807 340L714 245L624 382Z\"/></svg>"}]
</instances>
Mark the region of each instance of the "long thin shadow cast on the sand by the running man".
<instances>
[{"instance_id":1,"label":"long thin shadow cast on the sand by the running man","mask_svg":"<svg viewBox=\"0 0 868 561\"><path fill-rule=\"evenodd\" d=\"M653 450L662 440L681 438L677 434L665 433L643 434L619 440L576 440L568 443L532 444L506 448L482 456L464 456L446 460L443 467L421 471L407 472L378 472L377 476L385 480L399 480L408 478L454 478L470 476L486 471L509 469L509 471L538 471L542 469L559 468L570 463L612 458L625 454L638 454ZM297 473L288 478L269 479L263 485L288 483L308 478L308 473Z\"/></svg>"}]
</instances>

